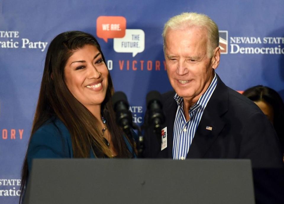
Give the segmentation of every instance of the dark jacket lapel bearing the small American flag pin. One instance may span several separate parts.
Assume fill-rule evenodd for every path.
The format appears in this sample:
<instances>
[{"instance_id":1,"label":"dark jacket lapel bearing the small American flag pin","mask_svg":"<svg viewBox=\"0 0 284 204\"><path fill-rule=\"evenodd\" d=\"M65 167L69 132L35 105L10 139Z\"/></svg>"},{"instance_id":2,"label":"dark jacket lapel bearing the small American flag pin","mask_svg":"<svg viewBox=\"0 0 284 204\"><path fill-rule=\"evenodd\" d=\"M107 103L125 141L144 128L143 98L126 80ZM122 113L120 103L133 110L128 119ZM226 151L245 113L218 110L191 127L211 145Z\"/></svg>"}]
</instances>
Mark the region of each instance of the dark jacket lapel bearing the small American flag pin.
<instances>
[{"instance_id":1,"label":"dark jacket lapel bearing the small American flag pin","mask_svg":"<svg viewBox=\"0 0 284 204\"><path fill-rule=\"evenodd\" d=\"M228 91L218 75L217 77L217 86L204 110L187 158L203 158L225 126L222 115L227 111Z\"/></svg>"}]
</instances>

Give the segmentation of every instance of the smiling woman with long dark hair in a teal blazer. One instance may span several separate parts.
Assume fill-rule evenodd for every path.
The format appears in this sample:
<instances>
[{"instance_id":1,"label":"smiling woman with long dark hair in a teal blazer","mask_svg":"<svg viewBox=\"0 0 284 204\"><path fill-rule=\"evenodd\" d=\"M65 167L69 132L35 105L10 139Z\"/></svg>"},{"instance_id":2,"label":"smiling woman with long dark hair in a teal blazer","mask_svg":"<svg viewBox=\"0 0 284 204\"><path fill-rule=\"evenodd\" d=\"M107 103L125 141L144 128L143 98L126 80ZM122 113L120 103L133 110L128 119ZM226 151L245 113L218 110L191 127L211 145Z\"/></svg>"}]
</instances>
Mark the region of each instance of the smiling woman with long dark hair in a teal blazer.
<instances>
[{"instance_id":1,"label":"smiling woman with long dark hair in a teal blazer","mask_svg":"<svg viewBox=\"0 0 284 204\"><path fill-rule=\"evenodd\" d=\"M115 122L112 80L97 40L59 34L46 54L38 104L22 168L24 195L33 158L135 157Z\"/></svg>"}]
</instances>

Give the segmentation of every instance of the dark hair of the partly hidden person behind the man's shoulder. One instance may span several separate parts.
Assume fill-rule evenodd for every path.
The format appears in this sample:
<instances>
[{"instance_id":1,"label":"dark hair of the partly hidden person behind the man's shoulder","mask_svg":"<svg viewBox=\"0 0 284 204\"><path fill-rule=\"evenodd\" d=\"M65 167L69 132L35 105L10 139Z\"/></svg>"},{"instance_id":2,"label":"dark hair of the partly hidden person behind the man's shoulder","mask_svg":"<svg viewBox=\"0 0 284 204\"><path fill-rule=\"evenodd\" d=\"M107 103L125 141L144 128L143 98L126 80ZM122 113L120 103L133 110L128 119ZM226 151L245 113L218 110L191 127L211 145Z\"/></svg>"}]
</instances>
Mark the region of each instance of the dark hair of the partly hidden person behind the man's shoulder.
<instances>
[{"instance_id":1,"label":"dark hair of the partly hidden person behind the man's shoulder","mask_svg":"<svg viewBox=\"0 0 284 204\"><path fill-rule=\"evenodd\" d=\"M251 99L251 101L263 101L273 108L274 118L273 126L280 140L282 153L284 153L284 103L277 91L267 86L257 85L248 88L243 95Z\"/></svg>"}]
</instances>

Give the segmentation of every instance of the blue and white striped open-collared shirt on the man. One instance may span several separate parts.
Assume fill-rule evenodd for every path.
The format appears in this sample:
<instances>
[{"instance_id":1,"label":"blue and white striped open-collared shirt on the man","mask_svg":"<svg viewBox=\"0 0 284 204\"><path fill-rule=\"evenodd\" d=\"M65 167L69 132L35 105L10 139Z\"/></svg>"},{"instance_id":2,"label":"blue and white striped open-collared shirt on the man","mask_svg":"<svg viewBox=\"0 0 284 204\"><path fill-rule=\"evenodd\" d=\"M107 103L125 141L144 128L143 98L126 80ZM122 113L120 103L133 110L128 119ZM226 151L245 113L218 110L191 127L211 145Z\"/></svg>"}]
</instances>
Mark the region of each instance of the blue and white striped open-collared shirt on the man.
<instances>
[{"instance_id":1,"label":"blue and white striped open-collared shirt on the man","mask_svg":"<svg viewBox=\"0 0 284 204\"><path fill-rule=\"evenodd\" d=\"M185 159L189 147L192 143L196 129L201 120L204 109L212 96L213 91L217 85L217 75L215 76L204 94L201 95L199 100L189 109L189 121L186 121L183 112L183 98L175 94L174 98L178 103L178 110L175 115L174 123L174 141L172 148L173 159Z\"/></svg>"}]
</instances>

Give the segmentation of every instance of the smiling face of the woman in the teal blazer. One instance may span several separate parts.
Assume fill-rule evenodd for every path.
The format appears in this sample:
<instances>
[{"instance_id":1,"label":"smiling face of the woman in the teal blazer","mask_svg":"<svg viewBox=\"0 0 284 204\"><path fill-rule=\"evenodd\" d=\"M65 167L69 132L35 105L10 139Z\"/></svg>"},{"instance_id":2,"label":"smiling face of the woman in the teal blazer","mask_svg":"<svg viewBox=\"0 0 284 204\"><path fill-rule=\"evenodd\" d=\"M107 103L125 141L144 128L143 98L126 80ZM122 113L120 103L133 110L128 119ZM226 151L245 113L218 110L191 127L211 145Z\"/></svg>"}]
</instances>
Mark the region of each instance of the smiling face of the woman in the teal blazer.
<instances>
[{"instance_id":1,"label":"smiling face of the woman in the teal blazer","mask_svg":"<svg viewBox=\"0 0 284 204\"><path fill-rule=\"evenodd\" d=\"M88 110L101 107L106 96L109 71L96 46L85 45L76 50L67 60L64 75L70 92Z\"/></svg>"}]
</instances>

